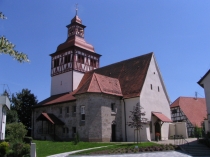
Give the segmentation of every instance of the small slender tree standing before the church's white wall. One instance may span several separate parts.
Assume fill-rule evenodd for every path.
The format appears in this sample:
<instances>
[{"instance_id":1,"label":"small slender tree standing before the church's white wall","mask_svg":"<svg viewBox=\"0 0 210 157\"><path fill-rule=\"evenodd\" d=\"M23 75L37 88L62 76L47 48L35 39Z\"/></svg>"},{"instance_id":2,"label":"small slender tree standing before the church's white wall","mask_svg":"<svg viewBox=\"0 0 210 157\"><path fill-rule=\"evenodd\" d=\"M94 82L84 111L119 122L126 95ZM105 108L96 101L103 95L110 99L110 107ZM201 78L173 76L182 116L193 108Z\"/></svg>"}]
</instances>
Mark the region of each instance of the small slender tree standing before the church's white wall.
<instances>
[{"instance_id":1,"label":"small slender tree standing before the church's white wall","mask_svg":"<svg viewBox=\"0 0 210 157\"><path fill-rule=\"evenodd\" d=\"M132 121L127 123L128 126L134 128L134 137L136 133L137 143L138 143L138 136L140 137L140 142L141 142L140 130L143 128L145 124L147 124L147 118L143 117L146 115L146 113L142 112L142 109L143 107L141 107L141 105L137 103L136 106L134 106L133 111L130 111L131 116L129 116L129 118L131 118Z\"/></svg>"}]
</instances>

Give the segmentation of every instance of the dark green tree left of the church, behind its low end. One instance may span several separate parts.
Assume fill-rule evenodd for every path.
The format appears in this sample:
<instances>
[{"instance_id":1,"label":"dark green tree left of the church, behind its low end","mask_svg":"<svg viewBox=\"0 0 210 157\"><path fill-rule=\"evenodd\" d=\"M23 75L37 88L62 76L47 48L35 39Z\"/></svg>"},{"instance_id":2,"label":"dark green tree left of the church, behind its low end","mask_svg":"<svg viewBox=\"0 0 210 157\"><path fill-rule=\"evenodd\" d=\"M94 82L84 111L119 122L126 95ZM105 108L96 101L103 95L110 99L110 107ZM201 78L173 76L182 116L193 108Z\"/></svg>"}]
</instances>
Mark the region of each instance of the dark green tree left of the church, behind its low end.
<instances>
[{"instance_id":1,"label":"dark green tree left of the church, behind its low end","mask_svg":"<svg viewBox=\"0 0 210 157\"><path fill-rule=\"evenodd\" d=\"M21 92L12 94L12 110L16 110L18 120L23 123L27 129L31 128L31 107L37 104L37 99L34 94L28 89L22 89Z\"/></svg>"}]
</instances>

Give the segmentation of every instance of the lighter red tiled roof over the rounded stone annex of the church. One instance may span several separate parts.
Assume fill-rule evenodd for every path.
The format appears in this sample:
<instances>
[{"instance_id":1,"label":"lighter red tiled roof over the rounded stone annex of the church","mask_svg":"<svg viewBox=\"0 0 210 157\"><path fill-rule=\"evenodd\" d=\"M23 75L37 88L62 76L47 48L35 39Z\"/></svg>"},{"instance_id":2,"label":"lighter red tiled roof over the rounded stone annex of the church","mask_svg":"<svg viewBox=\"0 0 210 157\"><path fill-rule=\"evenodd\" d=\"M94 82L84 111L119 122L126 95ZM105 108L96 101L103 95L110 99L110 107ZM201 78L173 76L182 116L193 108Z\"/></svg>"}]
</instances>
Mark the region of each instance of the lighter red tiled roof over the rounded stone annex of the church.
<instances>
[{"instance_id":1,"label":"lighter red tiled roof over the rounded stone annex of the church","mask_svg":"<svg viewBox=\"0 0 210 157\"><path fill-rule=\"evenodd\" d=\"M81 88L78 88L76 94L86 92L106 93L111 95L122 96L119 80L108 76L93 73L91 77L86 79L86 82Z\"/></svg>"}]
</instances>

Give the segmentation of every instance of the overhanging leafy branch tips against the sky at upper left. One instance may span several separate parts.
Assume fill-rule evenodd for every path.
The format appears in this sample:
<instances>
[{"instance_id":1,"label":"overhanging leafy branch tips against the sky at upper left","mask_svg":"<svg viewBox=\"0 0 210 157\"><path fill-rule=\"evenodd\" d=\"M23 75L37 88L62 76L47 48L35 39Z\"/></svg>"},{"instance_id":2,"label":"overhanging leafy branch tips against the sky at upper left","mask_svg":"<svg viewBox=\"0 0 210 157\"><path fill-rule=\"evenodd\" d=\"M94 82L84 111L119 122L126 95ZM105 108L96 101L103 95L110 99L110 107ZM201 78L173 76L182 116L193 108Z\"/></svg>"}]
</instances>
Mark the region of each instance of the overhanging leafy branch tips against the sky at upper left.
<instances>
[{"instance_id":1,"label":"overhanging leafy branch tips against the sky at upper left","mask_svg":"<svg viewBox=\"0 0 210 157\"><path fill-rule=\"evenodd\" d=\"M6 19L6 16L0 12L0 18ZM18 52L15 49L15 45L12 44L6 37L0 37L0 54L8 54L16 59L18 62L29 62L28 56L22 52Z\"/></svg>"}]
</instances>

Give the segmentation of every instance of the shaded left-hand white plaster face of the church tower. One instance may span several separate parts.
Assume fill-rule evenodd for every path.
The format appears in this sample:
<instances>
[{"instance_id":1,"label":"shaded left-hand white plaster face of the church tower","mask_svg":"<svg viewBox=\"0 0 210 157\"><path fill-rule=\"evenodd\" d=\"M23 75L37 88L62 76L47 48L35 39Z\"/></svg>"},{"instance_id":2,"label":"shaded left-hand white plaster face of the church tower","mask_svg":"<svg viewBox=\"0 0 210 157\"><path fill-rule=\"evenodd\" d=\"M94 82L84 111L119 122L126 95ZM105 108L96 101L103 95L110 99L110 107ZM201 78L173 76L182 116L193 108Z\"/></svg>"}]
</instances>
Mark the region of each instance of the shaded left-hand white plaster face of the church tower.
<instances>
[{"instance_id":1,"label":"shaded left-hand white plaster face of the church tower","mask_svg":"<svg viewBox=\"0 0 210 157\"><path fill-rule=\"evenodd\" d=\"M51 95L72 92L72 71L51 77Z\"/></svg>"}]
</instances>

